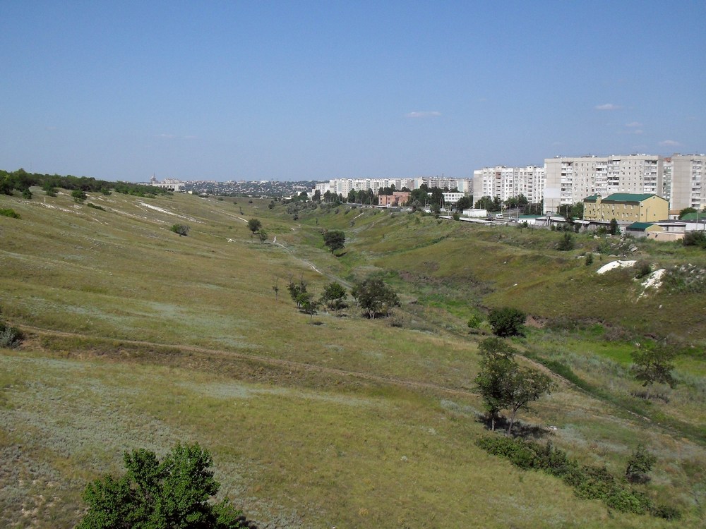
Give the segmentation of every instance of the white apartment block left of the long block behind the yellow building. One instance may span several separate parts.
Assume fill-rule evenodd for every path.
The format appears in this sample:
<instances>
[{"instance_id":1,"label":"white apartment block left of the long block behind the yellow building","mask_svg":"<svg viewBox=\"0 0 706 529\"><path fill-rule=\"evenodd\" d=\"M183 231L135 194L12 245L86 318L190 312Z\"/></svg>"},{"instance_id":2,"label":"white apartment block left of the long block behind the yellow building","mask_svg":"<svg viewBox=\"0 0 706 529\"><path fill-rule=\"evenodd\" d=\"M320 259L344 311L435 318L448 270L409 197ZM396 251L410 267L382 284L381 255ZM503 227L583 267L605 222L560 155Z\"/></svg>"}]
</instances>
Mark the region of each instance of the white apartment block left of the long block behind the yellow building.
<instances>
[{"instance_id":1,"label":"white apartment block left of the long block behind the yellow building","mask_svg":"<svg viewBox=\"0 0 706 529\"><path fill-rule=\"evenodd\" d=\"M500 197L508 200L517 195L525 195L530 202L540 202L544 198L544 167L484 167L473 171L473 198Z\"/></svg>"}]
</instances>

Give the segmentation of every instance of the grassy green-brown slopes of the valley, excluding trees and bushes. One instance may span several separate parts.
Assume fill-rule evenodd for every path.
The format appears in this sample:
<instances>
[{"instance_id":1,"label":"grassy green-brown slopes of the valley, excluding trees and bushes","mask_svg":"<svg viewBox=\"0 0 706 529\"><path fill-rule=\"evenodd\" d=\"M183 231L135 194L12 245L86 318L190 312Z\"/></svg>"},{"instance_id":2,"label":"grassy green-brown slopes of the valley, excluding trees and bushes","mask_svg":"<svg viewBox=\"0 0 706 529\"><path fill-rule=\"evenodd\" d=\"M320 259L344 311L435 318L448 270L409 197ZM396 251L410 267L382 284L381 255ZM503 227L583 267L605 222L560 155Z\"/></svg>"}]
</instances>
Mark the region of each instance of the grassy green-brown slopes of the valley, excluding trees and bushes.
<instances>
[{"instance_id":1,"label":"grassy green-brown slopes of the valley, excluding trees and bushes","mask_svg":"<svg viewBox=\"0 0 706 529\"><path fill-rule=\"evenodd\" d=\"M164 454L179 440L207 447L222 494L266 527L674 525L477 447L479 337L465 322L503 305L537 322L515 343L526 361L562 375L523 424L616 474L645 443L659 458L645 493L678 506L683 526L703 521L698 282L638 298L630 272L595 274L617 241L581 235L558 252L560 233L416 214L33 191L0 196L20 216L0 217L0 317L26 334L0 350L0 525L72 527L85 484L119 472L124 450ZM254 217L265 244L247 229ZM346 232L340 257L323 229ZM630 255L664 267L706 266L695 250L637 246ZM321 312L311 324L285 288L301 278L321 293L370 273L400 293L390 320ZM662 338L685 353L681 384L645 403L630 351Z\"/></svg>"}]
</instances>

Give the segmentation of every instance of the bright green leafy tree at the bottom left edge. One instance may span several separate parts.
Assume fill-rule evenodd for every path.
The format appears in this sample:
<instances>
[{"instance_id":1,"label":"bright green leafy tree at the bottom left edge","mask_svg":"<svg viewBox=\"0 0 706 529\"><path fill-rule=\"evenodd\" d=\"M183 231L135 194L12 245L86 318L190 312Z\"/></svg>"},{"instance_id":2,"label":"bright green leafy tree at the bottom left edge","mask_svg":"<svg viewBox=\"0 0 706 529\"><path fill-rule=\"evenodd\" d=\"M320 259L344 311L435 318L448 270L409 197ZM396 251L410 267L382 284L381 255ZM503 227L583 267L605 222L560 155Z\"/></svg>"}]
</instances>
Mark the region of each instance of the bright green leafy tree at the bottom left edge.
<instances>
[{"instance_id":1,"label":"bright green leafy tree at the bottom left edge","mask_svg":"<svg viewBox=\"0 0 706 529\"><path fill-rule=\"evenodd\" d=\"M177 444L162 461L145 449L126 452L126 475L110 475L86 487L88 512L78 529L234 529L241 511L227 500L210 504L220 485L208 451Z\"/></svg>"}]
</instances>

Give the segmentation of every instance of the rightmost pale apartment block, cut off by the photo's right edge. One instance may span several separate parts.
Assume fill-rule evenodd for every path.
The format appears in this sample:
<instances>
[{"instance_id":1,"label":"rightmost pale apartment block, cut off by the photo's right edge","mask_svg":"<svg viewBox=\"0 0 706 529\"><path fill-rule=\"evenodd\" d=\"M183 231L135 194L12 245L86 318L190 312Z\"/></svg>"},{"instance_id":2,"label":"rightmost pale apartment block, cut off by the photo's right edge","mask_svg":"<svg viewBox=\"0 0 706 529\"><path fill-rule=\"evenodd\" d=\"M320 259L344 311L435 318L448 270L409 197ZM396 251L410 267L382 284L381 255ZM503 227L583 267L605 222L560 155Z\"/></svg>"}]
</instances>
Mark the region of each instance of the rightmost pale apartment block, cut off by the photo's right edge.
<instances>
[{"instance_id":1,"label":"rightmost pale apartment block, cut off by the photo's right edge","mask_svg":"<svg viewBox=\"0 0 706 529\"><path fill-rule=\"evenodd\" d=\"M706 207L706 154L674 154L669 169L671 209Z\"/></svg>"}]
</instances>

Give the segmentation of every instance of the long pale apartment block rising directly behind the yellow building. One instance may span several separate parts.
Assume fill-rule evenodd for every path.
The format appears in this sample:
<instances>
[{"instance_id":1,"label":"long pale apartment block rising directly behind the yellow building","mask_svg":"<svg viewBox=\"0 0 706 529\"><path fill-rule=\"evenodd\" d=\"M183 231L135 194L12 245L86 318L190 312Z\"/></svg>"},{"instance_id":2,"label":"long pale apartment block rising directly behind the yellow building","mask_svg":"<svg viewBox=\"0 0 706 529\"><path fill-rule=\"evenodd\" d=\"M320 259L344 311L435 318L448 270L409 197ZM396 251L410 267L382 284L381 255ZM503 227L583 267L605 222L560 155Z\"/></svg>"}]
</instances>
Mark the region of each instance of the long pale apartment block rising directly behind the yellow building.
<instances>
[{"instance_id":1,"label":"long pale apartment block rising directly behind the yellow building","mask_svg":"<svg viewBox=\"0 0 706 529\"><path fill-rule=\"evenodd\" d=\"M664 159L656 154L556 157L545 159L544 167L545 212L594 194L664 193Z\"/></svg>"}]
</instances>

